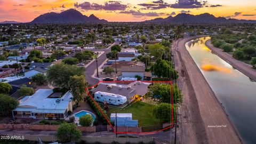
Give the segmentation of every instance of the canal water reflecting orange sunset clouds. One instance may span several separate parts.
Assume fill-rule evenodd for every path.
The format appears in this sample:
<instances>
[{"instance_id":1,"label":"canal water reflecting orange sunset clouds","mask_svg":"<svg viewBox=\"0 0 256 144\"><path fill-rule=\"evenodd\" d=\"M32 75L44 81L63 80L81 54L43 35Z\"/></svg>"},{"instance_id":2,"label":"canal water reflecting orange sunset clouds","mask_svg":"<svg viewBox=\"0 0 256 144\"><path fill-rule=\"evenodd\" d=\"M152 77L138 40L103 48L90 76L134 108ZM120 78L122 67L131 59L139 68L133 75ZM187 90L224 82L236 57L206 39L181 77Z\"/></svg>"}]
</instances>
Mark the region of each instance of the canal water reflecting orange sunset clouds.
<instances>
[{"instance_id":1,"label":"canal water reflecting orange sunset clouds","mask_svg":"<svg viewBox=\"0 0 256 144\"><path fill-rule=\"evenodd\" d=\"M205 46L210 37L186 43L186 48L217 95L245 143L256 143L256 82Z\"/></svg>"}]
</instances>

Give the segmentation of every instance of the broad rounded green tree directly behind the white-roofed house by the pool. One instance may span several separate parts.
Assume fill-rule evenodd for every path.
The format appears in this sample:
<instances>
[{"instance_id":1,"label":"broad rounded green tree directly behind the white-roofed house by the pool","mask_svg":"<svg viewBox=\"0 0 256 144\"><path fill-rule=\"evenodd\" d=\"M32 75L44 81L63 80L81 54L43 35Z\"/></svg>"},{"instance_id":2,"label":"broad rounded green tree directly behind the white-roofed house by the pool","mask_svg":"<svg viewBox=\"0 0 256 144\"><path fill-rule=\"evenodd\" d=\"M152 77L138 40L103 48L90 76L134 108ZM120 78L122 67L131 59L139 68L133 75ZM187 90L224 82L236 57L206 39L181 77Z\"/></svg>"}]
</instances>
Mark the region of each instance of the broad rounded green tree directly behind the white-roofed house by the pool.
<instances>
[{"instance_id":1,"label":"broad rounded green tree directly behind the white-roofed house by the pool","mask_svg":"<svg viewBox=\"0 0 256 144\"><path fill-rule=\"evenodd\" d=\"M74 75L84 75L84 67L60 63L51 66L46 71L46 77L50 84L66 90L70 90L69 79Z\"/></svg>"}]
</instances>

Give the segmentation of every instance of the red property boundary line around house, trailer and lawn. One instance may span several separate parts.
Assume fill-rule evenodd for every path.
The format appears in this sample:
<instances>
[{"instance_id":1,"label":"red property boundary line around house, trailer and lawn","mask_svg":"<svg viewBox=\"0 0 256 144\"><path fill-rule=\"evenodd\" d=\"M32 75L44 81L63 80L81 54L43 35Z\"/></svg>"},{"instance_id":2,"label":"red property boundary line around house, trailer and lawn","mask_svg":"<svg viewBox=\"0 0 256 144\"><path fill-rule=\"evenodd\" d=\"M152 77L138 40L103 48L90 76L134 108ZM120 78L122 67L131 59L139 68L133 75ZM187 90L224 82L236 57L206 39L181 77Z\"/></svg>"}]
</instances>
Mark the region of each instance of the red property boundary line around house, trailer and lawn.
<instances>
[{"instance_id":1,"label":"red property boundary line around house, trailer and lawn","mask_svg":"<svg viewBox=\"0 0 256 144\"><path fill-rule=\"evenodd\" d=\"M127 134L127 133L131 133L131 134L154 134L157 132L161 132L167 129L171 129L174 125L173 125L173 82L172 81L140 81L140 82L145 82L145 83L170 83L171 84L171 101L172 101L172 123L171 126L165 127L164 129L158 130L158 131L154 131L154 132L116 132L114 126L110 123L109 119L105 116L105 114L103 113L103 111L101 110L100 106L98 105L98 103L93 99L92 95L90 94L90 92L88 91L88 89L91 89L92 87L95 87L97 85L99 85L99 83L118 83L118 82L136 82L136 81L99 81L97 84L90 86L90 87L86 87L85 91L87 92L87 94L89 94L90 98L93 100L93 102L95 103L95 105L99 108L101 114L107 119L109 125L112 127L112 129L114 130L114 133L121 133L121 134Z\"/></svg>"}]
</instances>

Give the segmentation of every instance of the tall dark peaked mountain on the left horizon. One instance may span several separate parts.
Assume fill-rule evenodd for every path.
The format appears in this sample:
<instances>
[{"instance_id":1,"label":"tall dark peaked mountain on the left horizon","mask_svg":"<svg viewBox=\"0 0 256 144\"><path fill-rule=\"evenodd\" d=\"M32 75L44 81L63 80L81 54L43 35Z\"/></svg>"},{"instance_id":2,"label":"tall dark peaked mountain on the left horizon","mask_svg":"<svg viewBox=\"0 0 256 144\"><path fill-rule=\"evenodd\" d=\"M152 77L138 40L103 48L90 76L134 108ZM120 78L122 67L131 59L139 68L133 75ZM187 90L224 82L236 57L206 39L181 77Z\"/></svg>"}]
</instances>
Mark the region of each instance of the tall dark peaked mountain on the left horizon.
<instances>
[{"instance_id":1,"label":"tall dark peaked mountain on the left horizon","mask_svg":"<svg viewBox=\"0 0 256 144\"><path fill-rule=\"evenodd\" d=\"M108 22L104 19L99 19L91 14L89 17L83 15L75 9L69 9L61 13L45 13L39 15L30 23L103 23Z\"/></svg>"}]
</instances>

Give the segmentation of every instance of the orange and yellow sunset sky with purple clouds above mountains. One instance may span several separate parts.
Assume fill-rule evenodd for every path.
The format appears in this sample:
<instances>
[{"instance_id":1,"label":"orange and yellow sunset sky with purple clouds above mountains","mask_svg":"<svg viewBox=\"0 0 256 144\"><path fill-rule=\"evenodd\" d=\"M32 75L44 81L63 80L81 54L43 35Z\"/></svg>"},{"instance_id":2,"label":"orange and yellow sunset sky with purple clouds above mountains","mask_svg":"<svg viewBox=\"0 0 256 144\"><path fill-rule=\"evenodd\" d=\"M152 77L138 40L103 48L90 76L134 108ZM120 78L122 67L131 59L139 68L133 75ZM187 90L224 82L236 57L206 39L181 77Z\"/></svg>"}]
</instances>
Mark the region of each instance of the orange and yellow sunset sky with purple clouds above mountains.
<instances>
[{"instance_id":1,"label":"orange and yellow sunset sky with purple clouds above mountains","mask_svg":"<svg viewBox=\"0 0 256 144\"><path fill-rule=\"evenodd\" d=\"M0 21L30 22L40 14L76 9L108 21L145 21L179 13L256 20L255 0L0 0Z\"/></svg>"}]
</instances>

